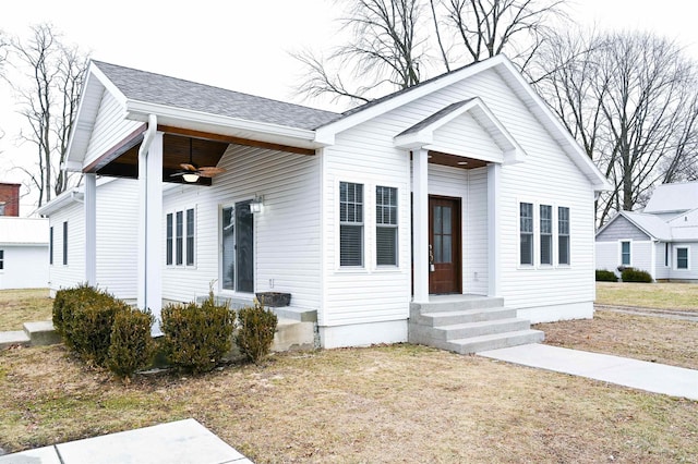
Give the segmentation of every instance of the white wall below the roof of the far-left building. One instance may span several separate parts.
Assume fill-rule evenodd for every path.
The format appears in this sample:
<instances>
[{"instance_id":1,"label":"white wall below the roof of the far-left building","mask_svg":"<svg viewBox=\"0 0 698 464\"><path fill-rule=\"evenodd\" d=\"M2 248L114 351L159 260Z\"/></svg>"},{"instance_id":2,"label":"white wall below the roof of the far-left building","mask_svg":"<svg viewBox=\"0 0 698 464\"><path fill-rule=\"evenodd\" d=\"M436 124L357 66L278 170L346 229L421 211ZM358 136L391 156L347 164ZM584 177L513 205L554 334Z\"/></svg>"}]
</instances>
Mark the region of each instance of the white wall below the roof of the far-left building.
<instances>
[{"instance_id":1,"label":"white wall below the roof of the far-left building","mask_svg":"<svg viewBox=\"0 0 698 464\"><path fill-rule=\"evenodd\" d=\"M43 289L48 286L48 244L0 245L3 269L0 289Z\"/></svg>"}]
</instances>

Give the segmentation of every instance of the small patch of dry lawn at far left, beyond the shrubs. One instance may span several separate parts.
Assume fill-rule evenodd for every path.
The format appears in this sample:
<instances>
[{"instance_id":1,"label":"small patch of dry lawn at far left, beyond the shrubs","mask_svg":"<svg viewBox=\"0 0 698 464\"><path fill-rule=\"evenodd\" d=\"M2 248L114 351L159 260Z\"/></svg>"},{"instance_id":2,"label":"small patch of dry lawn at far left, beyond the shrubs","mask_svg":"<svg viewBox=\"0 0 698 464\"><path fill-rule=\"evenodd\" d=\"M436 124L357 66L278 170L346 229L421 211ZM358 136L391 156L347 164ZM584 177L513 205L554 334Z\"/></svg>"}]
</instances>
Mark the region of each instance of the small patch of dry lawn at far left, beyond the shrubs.
<instances>
[{"instance_id":1,"label":"small patch of dry lawn at far left, beyond the shrubs","mask_svg":"<svg viewBox=\"0 0 698 464\"><path fill-rule=\"evenodd\" d=\"M24 322L50 320L48 289L0 290L0 330L22 330Z\"/></svg>"}]
</instances>

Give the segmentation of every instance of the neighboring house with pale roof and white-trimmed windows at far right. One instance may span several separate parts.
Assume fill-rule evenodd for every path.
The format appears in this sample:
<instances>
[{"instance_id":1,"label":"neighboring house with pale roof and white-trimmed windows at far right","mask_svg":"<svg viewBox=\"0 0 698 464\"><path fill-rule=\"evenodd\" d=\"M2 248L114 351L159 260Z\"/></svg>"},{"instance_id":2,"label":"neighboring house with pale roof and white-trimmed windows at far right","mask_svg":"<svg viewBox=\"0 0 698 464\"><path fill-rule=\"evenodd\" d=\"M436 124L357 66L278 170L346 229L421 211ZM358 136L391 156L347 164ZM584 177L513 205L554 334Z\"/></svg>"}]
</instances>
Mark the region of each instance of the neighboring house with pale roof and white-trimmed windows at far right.
<instances>
[{"instance_id":1,"label":"neighboring house with pale roof and white-trimmed windows at far right","mask_svg":"<svg viewBox=\"0 0 698 464\"><path fill-rule=\"evenodd\" d=\"M597 232L597 269L645 270L654 280L698 281L698 182L662 184L642 212L621 211Z\"/></svg>"}]
</instances>

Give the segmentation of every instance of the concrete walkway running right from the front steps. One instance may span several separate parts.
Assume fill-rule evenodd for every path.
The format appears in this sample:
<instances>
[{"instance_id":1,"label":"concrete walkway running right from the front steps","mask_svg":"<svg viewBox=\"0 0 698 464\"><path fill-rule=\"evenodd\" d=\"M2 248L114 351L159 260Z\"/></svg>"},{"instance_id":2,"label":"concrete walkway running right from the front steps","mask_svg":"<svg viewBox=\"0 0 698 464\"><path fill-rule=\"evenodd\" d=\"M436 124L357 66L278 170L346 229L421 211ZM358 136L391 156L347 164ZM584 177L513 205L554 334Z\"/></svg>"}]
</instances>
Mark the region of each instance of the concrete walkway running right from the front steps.
<instances>
[{"instance_id":1,"label":"concrete walkway running right from the front steps","mask_svg":"<svg viewBox=\"0 0 698 464\"><path fill-rule=\"evenodd\" d=\"M507 363L698 400L698 370L694 369L538 343L478 354Z\"/></svg>"}]
</instances>

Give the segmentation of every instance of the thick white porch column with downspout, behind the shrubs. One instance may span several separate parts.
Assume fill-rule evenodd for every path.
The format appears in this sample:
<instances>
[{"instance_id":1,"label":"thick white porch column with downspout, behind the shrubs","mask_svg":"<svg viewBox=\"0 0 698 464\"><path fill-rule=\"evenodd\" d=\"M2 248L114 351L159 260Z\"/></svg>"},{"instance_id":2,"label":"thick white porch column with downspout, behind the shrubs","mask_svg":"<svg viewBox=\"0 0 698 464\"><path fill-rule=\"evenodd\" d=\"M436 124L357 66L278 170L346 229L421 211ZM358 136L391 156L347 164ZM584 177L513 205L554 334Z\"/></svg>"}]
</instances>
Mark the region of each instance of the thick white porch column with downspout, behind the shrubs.
<instances>
[{"instance_id":1,"label":"thick white porch column with downspout, behind the shrubs","mask_svg":"<svg viewBox=\"0 0 698 464\"><path fill-rule=\"evenodd\" d=\"M163 309L163 133L139 152L139 308L156 318L153 334L160 334Z\"/></svg>"}]
</instances>

